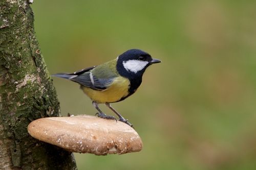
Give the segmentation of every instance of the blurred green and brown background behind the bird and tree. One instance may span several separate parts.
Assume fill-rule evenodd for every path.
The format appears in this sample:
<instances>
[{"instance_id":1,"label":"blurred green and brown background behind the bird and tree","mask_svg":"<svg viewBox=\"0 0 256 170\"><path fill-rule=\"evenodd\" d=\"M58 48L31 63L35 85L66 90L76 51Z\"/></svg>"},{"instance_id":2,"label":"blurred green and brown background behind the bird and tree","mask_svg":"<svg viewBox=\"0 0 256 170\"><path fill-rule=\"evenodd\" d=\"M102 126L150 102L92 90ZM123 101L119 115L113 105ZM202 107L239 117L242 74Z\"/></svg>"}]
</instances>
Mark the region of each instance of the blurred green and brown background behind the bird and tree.
<instances>
[{"instance_id":1,"label":"blurred green and brown background behind the bird and tree","mask_svg":"<svg viewBox=\"0 0 256 170\"><path fill-rule=\"evenodd\" d=\"M162 60L135 95L113 104L143 150L75 154L78 169L256 168L256 1L46 0L32 8L50 74L130 48ZM54 85L62 115L96 113L78 84Z\"/></svg>"}]
</instances>

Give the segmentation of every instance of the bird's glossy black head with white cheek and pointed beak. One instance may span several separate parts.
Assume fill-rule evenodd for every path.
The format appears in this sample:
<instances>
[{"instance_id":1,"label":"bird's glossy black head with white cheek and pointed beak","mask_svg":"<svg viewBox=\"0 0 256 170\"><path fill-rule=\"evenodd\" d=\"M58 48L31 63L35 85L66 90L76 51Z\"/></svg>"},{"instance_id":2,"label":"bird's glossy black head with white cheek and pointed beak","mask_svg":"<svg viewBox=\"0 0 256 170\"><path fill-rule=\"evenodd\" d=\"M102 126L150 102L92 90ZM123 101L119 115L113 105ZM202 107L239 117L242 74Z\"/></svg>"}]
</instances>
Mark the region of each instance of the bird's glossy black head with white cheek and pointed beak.
<instances>
[{"instance_id":1,"label":"bird's glossy black head with white cheek and pointed beak","mask_svg":"<svg viewBox=\"0 0 256 170\"><path fill-rule=\"evenodd\" d=\"M153 59L150 54L142 50L132 49L118 56L117 71L129 79L142 78L146 68L154 63L160 63L158 59Z\"/></svg>"}]
</instances>

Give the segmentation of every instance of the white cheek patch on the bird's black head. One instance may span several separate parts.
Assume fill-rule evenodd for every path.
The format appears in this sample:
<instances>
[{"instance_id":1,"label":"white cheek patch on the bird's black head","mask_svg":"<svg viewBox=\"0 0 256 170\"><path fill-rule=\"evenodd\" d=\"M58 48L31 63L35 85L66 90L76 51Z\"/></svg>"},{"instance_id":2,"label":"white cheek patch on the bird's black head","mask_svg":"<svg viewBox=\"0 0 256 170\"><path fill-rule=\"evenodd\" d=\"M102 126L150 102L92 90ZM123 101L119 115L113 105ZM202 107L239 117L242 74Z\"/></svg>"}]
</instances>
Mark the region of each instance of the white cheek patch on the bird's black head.
<instances>
[{"instance_id":1,"label":"white cheek patch on the bird's black head","mask_svg":"<svg viewBox=\"0 0 256 170\"><path fill-rule=\"evenodd\" d=\"M128 60L123 61L123 67L127 71L132 71L135 74L145 68L145 66L148 64L148 61L139 61L139 60Z\"/></svg>"}]
</instances>

